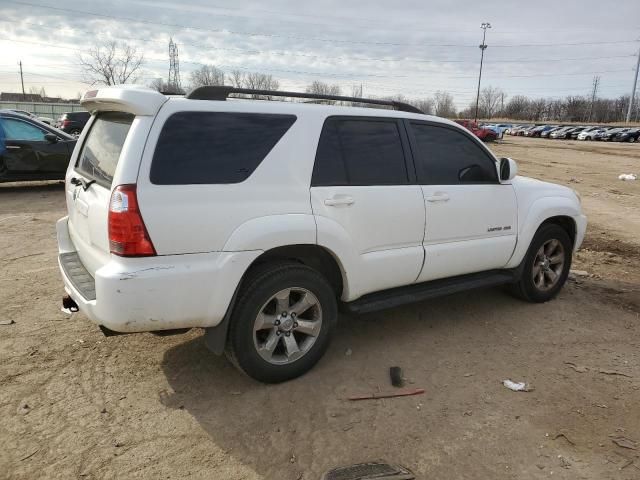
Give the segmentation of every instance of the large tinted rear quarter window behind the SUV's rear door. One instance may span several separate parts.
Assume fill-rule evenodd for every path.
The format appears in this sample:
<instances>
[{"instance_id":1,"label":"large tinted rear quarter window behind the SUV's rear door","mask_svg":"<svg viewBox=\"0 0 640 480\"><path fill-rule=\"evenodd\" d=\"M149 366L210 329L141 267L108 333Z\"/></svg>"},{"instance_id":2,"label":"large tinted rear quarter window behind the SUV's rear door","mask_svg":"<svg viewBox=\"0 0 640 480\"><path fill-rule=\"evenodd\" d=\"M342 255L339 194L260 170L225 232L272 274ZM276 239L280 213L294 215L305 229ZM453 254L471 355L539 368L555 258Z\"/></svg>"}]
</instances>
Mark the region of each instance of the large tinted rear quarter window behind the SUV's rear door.
<instances>
[{"instance_id":1,"label":"large tinted rear quarter window behind the SUV's rear door","mask_svg":"<svg viewBox=\"0 0 640 480\"><path fill-rule=\"evenodd\" d=\"M295 122L294 115L179 112L162 127L151 164L157 185L246 180Z\"/></svg>"}]
</instances>

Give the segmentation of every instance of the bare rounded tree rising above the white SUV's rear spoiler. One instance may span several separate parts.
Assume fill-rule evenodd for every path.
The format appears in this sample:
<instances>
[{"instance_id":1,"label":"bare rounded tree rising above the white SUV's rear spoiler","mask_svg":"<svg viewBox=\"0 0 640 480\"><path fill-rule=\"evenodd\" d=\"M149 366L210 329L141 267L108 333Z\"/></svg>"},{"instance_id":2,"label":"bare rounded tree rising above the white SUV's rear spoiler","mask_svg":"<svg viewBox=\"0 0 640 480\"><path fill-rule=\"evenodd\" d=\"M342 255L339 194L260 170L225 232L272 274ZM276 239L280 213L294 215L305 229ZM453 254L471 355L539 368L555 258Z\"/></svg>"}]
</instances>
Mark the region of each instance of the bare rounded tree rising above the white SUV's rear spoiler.
<instances>
[{"instance_id":1,"label":"bare rounded tree rising above the white SUV's rear spoiler","mask_svg":"<svg viewBox=\"0 0 640 480\"><path fill-rule=\"evenodd\" d=\"M88 83L119 85L138 80L144 55L126 43L112 41L91 47L79 61Z\"/></svg>"}]
</instances>

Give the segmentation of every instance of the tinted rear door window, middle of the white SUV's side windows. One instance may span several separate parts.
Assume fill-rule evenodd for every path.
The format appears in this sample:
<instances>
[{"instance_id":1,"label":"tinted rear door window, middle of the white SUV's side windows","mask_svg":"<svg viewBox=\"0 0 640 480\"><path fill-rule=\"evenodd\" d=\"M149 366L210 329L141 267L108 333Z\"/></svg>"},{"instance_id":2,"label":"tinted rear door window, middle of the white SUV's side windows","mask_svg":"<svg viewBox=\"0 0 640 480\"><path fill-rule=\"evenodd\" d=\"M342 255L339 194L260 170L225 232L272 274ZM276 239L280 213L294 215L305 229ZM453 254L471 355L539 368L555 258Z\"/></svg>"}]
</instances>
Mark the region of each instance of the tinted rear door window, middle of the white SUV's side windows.
<instances>
[{"instance_id":1,"label":"tinted rear door window, middle of the white SUV's side windows","mask_svg":"<svg viewBox=\"0 0 640 480\"><path fill-rule=\"evenodd\" d=\"M395 120L329 118L322 130L313 186L408 183Z\"/></svg>"}]
</instances>

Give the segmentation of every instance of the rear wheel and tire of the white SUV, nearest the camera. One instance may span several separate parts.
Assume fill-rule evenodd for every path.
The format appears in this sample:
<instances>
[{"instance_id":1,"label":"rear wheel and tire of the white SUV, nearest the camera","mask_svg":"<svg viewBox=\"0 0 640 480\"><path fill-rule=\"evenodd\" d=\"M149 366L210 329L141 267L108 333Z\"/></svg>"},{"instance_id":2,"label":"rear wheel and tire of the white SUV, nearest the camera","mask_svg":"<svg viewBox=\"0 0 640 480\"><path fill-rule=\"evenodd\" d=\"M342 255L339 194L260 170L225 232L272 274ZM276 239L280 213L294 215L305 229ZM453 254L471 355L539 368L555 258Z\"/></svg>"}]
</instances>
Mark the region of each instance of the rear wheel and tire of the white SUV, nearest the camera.
<instances>
[{"instance_id":1,"label":"rear wheel and tire of the white SUV, nearest the camera","mask_svg":"<svg viewBox=\"0 0 640 480\"><path fill-rule=\"evenodd\" d=\"M322 358L337 317L336 293L319 272L294 262L263 265L243 281L225 354L260 382L291 380Z\"/></svg>"}]
</instances>

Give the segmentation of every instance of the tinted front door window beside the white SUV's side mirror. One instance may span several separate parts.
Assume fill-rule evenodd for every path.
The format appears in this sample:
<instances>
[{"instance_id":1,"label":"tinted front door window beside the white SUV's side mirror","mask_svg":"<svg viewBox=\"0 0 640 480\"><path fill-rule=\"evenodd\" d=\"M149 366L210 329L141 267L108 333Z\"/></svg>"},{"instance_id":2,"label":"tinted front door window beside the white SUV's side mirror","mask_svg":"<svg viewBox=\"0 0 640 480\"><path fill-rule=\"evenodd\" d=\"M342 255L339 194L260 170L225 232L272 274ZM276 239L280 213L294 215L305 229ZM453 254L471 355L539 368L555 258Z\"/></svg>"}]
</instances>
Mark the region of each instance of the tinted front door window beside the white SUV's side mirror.
<instances>
[{"instance_id":1,"label":"tinted front door window beside the white SUV's side mirror","mask_svg":"<svg viewBox=\"0 0 640 480\"><path fill-rule=\"evenodd\" d=\"M497 183L495 162L472 139L450 128L411 123L423 185Z\"/></svg>"}]
</instances>

